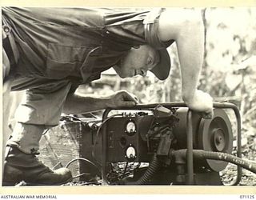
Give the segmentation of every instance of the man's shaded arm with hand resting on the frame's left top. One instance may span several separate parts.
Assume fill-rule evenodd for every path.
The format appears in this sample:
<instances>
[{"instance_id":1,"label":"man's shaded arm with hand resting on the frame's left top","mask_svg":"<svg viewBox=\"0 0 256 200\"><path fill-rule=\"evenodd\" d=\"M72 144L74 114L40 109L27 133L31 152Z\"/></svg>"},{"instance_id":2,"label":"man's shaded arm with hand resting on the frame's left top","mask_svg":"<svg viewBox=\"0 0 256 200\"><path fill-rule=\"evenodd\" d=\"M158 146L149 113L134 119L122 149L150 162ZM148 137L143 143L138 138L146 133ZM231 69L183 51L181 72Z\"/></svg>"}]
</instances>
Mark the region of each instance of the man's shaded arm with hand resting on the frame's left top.
<instances>
[{"instance_id":1,"label":"man's shaded arm with hand resting on the frame's left top","mask_svg":"<svg viewBox=\"0 0 256 200\"><path fill-rule=\"evenodd\" d=\"M66 114L79 114L96 110L103 110L107 107L117 108L122 106L135 106L138 98L125 90L118 91L110 96L95 97L85 94L69 94L66 98L63 112Z\"/></svg>"}]
</instances>

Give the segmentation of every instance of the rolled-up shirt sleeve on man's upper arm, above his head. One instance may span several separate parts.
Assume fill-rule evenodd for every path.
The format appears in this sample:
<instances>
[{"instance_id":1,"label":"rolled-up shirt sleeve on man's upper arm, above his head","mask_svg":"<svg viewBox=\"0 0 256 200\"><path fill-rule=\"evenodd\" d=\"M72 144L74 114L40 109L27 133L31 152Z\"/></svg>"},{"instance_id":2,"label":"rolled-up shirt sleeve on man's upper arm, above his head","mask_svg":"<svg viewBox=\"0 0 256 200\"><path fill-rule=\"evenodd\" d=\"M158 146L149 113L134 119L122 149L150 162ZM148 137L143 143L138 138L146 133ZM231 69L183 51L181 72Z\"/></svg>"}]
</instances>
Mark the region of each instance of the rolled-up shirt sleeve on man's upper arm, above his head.
<instances>
[{"instance_id":1,"label":"rolled-up shirt sleeve on man's upper arm, above his head","mask_svg":"<svg viewBox=\"0 0 256 200\"><path fill-rule=\"evenodd\" d=\"M166 48L173 41L161 42L158 38L158 19L163 10L108 10L104 14L106 38L116 43L114 46L149 44L156 49Z\"/></svg>"}]
</instances>

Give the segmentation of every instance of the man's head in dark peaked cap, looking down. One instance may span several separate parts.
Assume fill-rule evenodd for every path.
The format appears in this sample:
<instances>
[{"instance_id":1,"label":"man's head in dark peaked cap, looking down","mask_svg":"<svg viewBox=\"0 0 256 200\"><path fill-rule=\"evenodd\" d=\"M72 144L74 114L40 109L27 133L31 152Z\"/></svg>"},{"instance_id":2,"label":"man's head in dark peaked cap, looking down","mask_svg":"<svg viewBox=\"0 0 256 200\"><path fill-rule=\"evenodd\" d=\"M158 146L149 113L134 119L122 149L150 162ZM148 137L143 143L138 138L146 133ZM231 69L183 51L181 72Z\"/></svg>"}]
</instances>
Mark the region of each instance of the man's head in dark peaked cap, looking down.
<instances>
[{"instance_id":1,"label":"man's head in dark peaked cap, looking down","mask_svg":"<svg viewBox=\"0 0 256 200\"><path fill-rule=\"evenodd\" d=\"M114 70L121 78L136 75L146 76L148 70L156 77L164 80L170 72L170 58L166 50L155 50L151 46L144 45L138 49L132 48L121 59Z\"/></svg>"}]
</instances>

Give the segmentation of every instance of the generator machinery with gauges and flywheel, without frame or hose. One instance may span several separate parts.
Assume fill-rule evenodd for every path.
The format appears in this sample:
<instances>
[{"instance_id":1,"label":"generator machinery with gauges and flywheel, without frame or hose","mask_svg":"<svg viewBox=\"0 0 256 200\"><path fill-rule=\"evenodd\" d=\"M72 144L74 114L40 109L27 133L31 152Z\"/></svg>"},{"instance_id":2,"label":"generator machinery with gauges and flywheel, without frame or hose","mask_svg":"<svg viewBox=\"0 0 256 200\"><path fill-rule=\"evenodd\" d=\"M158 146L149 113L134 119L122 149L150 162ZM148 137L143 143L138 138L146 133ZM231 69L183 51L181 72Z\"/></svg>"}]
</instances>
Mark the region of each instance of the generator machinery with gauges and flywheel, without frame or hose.
<instances>
[{"instance_id":1,"label":"generator machinery with gauges and flywheel, without frame or hose","mask_svg":"<svg viewBox=\"0 0 256 200\"><path fill-rule=\"evenodd\" d=\"M195 184L221 185L218 172L224 170L228 162L196 158L193 166L188 166L186 159L174 154L187 149L188 112L186 107L167 108L158 105L152 109L122 110L106 118L102 129L102 161L106 182L128 185L186 184L188 169L193 167ZM192 113L190 121L193 125L193 150L231 153L233 133L226 111L215 108L211 119ZM134 164L129 178L109 176L114 174L113 169L120 162L125 162L126 167L129 163L149 163L149 166L138 167ZM150 168L152 163L155 165L151 167L153 169ZM151 173L143 178L149 169Z\"/></svg>"}]
</instances>

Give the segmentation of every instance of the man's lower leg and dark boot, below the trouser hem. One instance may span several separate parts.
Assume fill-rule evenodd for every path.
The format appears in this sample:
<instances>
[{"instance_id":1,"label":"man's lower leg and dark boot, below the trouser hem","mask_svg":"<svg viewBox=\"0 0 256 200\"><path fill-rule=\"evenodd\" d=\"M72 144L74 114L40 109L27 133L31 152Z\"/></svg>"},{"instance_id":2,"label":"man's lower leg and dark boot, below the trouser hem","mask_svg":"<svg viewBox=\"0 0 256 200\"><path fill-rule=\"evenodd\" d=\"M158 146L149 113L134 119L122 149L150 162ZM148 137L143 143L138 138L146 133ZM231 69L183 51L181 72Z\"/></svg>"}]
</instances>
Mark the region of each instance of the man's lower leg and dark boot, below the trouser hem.
<instances>
[{"instance_id":1,"label":"man's lower leg and dark boot, below the trouser hem","mask_svg":"<svg viewBox=\"0 0 256 200\"><path fill-rule=\"evenodd\" d=\"M38 161L38 142L44 126L17 123L14 137L6 146L3 185L14 185L22 180L31 185L61 185L72 179L70 170L50 170Z\"/></svg>"}]
</instances>

